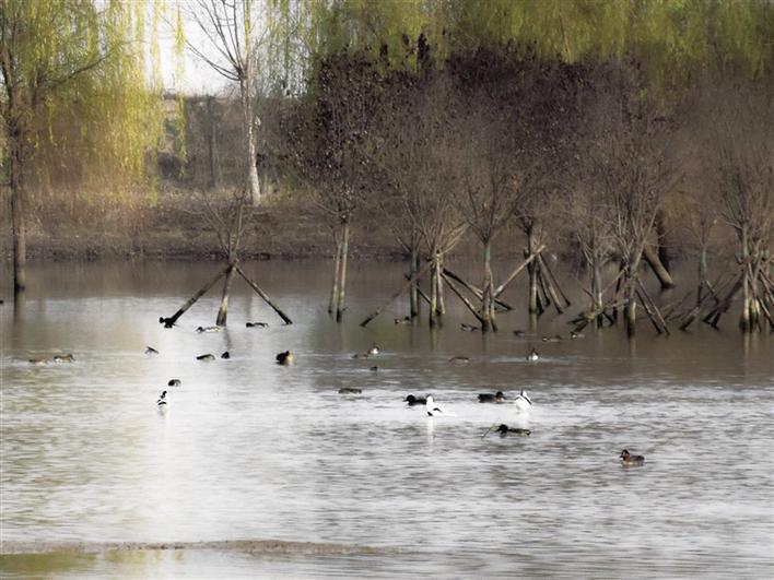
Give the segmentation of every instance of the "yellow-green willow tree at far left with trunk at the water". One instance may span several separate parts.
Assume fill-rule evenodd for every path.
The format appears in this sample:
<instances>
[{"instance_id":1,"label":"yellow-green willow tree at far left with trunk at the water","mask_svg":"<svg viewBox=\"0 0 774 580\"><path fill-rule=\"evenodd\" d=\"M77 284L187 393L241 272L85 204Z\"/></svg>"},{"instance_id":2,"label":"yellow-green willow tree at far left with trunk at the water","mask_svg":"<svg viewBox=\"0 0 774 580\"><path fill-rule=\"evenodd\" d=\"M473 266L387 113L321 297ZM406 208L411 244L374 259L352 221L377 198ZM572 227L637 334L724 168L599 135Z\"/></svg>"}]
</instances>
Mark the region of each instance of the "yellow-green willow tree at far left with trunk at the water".
<instances>
[{"instance_id":1,"label":"yellow-green willow tree at far left with trunk at the water","mask_svg":"<svg viewBox=\"0 0 774 580\"><path fill-rule=\"evenodd\" d=\"M161 4L151 5L152 36ZM16 292L26 285L31 184L62 167L92 187L108 176L115 186L145 175L145 153L162 127L161 87L146 80L146 11L145 2L0 2L2 163Z\"/></svg>"}]
</instances>

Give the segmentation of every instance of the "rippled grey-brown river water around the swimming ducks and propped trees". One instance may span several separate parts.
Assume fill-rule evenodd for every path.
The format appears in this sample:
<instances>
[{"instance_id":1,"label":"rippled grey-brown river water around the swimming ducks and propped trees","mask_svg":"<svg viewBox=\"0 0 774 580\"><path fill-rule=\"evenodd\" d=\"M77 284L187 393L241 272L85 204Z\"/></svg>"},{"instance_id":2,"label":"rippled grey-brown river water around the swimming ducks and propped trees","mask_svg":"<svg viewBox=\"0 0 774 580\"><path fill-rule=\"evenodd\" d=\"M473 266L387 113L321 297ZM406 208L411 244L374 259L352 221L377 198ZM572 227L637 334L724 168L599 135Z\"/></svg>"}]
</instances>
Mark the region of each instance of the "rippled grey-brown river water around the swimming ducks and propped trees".
<instances>
[{"instance_id":1,"label":"rippled grey-brown river water around the swimming ducks and propped trees","mask_svg":"<svg viewBox=\"0 0 774 580\"><path fill-rule=\"evenodd\" d=\"M5 295L2 573L774 575L771 335L743 338L729 318L720 332L657 338L643 321L632 343L615 329L542 342L566 336L570 316L546 315L516 336L527 329L519 307L484 336L459 329L473 320L453 296L439 331L394 323L406 313L402 299L363 329L399 287L401 265L356 263L337 324L326 312L330 267L318 262L244 267L292 325L239 280L227 330L195 330L214 323L215 289L175 328L157 323L218 268L47 264L31 269L22 303ZM523 286L506 299L521 306ZM352 357L372 344L378 356ZM146 355L148 345L160 354ZM531 346L535 363L526 359ZM196 359L226 350L230 359ZM274 363L285 350L295 365ZM28 362L58 353L75 360ZM167 387L172 378L181 386ZM513 404L521 389L533 401L529 413ZM166 413L156 405L163 390ZM477 401L497 390L505 403ZM408 393L432 393L448 415L408 407ZM486 434L500 423L531 436ZM644 454L645 465L621 466L623 448ZM230 540L341 549L10 554L46 543Z\"/></svg>"}]
</instances>

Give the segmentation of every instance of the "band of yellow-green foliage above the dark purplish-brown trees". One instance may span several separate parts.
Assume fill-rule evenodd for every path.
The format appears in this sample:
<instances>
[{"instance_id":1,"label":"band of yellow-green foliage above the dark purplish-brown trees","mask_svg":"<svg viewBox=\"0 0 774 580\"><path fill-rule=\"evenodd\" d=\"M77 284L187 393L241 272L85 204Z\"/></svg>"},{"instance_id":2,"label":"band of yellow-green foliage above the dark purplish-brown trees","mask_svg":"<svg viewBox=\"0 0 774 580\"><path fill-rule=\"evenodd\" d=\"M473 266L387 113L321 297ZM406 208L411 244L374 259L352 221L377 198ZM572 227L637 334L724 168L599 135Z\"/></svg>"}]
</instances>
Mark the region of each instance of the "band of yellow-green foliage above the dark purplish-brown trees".
<instances>
[{"instance_id":1,"label":"band of yellow-green foliage above the dark purplish-brown trees","mask_svg":"<svg viewBox=\"0 0 774 580\"><path fill-rule=\"evenodd\" d=\"M774 3L766 0L317 0L313 54L342 49L415 67L424 34L434 61L515 45L543 60L632 58L661 87L705 68L772 74Z\"/></svg>"}]
</instances>

